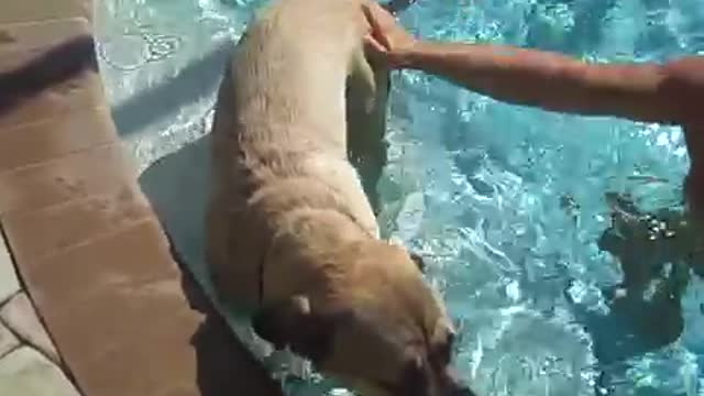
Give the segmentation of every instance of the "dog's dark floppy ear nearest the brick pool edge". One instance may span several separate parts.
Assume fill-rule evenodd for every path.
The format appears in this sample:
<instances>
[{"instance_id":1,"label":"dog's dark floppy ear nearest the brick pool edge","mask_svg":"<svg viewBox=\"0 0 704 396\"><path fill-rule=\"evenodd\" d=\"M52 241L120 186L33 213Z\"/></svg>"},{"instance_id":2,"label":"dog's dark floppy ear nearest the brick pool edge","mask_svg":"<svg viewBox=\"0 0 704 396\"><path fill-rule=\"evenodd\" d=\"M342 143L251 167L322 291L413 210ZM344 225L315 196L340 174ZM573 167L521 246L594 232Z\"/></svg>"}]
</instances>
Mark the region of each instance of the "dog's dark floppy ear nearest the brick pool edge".
<instances>
[{"instance_id":1,"label":"dog's dark floppy ear nearest the brick pool edge","mask_svg":"<svg viewBox=\"0 0 704 396\"><path fill-rule=\"evenodd\" d=\"M274 344L277 350L289 346L292 351L314 363L324 360L332 348L336 317L311 311L305 296L265 307L252 318L254 332Z\"/></svg>"}]
</instances>

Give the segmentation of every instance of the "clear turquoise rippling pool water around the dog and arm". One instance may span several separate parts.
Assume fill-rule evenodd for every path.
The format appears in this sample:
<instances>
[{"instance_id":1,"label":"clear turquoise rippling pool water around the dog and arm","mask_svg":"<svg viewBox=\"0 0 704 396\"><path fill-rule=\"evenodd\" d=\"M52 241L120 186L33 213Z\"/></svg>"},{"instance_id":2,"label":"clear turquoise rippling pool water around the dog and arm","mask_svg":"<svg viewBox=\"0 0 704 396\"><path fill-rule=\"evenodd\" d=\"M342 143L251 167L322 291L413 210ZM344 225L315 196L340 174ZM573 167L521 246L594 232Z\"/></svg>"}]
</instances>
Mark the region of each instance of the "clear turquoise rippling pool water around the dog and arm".
<instances>
[{"instance_id":1,"label":"clear turquoise rippling pool water around the dog and arm","mask_svg":"<svg viewBox=\"0 0 704 396\"><path fill-rule=\"evenodd\" d=\"M199 142L229 40L262 3L97 6L116 122L187 261L201 260ZM701 0L420 0L402 22L424 37L592 62L704 51ZM609 305L604 290L623 274L596 243L609 223L606 193L680 205L689 160L679 128L547 113L405 72L394 75L388 140L380 221L428 258L461 328L458 369L479 395L704 395L702 280L681 299L681 336L652 345L623 311L645 312L661 324L654 332L680 314ZM169 157L176 165L156 169Z\"/></svg>"}]
</instances>

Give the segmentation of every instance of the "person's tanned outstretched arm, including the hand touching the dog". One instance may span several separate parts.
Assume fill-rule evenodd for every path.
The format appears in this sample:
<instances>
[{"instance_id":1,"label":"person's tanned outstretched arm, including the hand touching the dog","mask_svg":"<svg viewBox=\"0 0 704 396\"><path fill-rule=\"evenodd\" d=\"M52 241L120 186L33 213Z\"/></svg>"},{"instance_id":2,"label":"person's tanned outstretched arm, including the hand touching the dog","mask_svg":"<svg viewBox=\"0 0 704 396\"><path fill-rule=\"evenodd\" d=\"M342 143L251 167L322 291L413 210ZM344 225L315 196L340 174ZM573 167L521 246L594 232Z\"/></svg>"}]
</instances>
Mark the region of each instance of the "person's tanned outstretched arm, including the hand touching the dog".
<instances>
[{"instance_id":1,"label":"person's tanned outstretched arm, including the hand touching the dog","mask_svg":"<svg viewBox=\"0 0 704 396\"><path fill-rule=\"evenodd\" d=\"M546 110L685 124L704 102L704 58L587 64L512 46L415 40L373 2L367 44L392 68L418 69L495 99Z\"/></svg>"}]
</instances>

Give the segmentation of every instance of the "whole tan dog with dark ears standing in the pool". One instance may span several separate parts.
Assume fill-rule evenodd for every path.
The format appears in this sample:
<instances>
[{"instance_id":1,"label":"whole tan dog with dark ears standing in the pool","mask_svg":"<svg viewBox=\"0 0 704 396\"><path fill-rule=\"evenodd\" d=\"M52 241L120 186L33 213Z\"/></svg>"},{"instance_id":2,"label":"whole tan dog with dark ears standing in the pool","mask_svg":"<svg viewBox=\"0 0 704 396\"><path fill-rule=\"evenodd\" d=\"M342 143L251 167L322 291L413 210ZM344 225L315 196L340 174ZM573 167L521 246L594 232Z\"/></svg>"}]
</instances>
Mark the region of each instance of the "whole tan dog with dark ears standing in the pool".
<instances>
[{"instance_id":1,"label":"whole tan dog with dark ears standing in the pool","mask_svg":"<svg viewBox=\"0 0 704 396\"><path fill-rule=\"evenodd\" d=\"M213 282L263 339L364 395L472 395L420 260L380 240L358 174L374 194L388 95L360 1L277 1L239 42L212 131Z\"/></svg>"}]
</instances>

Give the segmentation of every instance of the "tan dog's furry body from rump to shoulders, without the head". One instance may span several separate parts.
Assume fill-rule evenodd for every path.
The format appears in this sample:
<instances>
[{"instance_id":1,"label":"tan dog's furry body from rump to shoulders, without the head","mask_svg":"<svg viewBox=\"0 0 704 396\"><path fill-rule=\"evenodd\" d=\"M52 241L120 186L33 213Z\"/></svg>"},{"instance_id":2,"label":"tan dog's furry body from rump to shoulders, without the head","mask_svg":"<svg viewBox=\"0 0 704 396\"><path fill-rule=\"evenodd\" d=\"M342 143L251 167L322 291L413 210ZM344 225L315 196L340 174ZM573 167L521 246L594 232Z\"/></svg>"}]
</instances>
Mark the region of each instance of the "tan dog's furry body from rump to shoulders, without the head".
<instances>
[{"instance_id":1,"label":"tan dog's furry body from rump to shoulders, without the head","mask_svg":"<svg viewBox=\"0 0 704 396\"><path fill-rule=\"evenodd\" d=\"M384 162L388 87L364 58L365 31L360 0L280 0L238 43L212 130L208 255L239 304L256 306L258 265L287 211L333 206L378 232L348 158L356 150L372 178Z\"/></svg>"}]
</instances>

